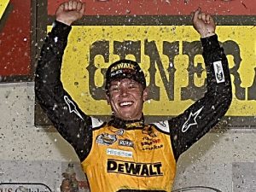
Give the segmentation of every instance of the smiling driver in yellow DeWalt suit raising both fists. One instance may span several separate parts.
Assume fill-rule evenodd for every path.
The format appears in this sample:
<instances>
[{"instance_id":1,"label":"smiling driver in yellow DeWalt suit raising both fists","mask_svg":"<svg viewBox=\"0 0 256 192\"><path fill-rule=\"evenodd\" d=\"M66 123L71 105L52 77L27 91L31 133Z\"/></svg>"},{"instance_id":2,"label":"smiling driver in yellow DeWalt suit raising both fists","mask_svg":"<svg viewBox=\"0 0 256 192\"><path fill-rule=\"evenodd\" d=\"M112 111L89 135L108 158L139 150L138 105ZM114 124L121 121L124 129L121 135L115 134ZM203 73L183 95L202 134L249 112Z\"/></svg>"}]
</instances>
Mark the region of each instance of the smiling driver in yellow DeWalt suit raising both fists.
<instances>
[{"instance_id":1,"label":"smiling driver in yellow DeWalt suit raising both fists","mask_svg":"<svg viewBox=\"0 0 256 192\"><path fill-rule=\"evenodd\" d=\"M113 116L109 122L102 122L84 114L61 84L67 37L71 24L84 15L84 9L84 3L70 1L56 10L53 29L38 61L38 101L78 154L90 191L171 191L179 156L230 107L230 72L214 21L201 9L192 18L201 34L207 67L207 92L200 100L176 118L146 125L143 102L148 90L144 73L136 61L120 60L106 73L106 96Z\"/></svg>"}]
</instances>

